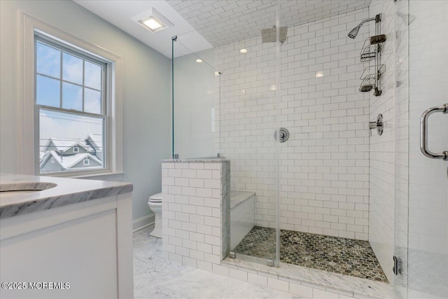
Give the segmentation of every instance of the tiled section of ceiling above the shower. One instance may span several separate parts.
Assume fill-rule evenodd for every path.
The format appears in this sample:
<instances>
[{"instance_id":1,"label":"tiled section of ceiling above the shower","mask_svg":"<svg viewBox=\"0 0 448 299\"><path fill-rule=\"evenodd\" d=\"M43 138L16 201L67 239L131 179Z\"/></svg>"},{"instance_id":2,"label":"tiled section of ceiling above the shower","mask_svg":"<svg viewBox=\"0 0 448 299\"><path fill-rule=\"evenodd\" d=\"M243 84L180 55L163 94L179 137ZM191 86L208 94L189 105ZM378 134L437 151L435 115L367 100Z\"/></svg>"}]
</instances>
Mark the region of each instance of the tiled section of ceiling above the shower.
<instances>
[{"instance_id":1,"label":"tiled section of ceiling above the shower","mask_svg":"<svg viewBox=\"0 0 448 299\"><path fill-rule=\"evenodd\" d=\"M213 46L223 46L260 36L276 22L295 27L333 15L366 8L370 0L167 0Z\"/></svg>"}]
</instances>

